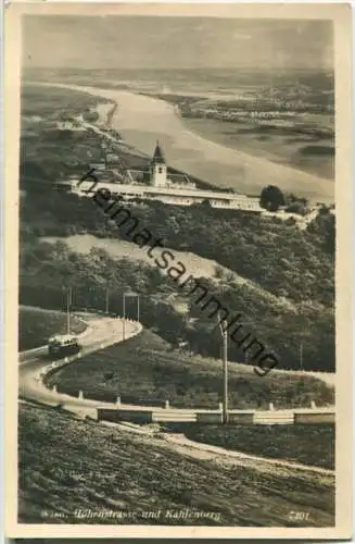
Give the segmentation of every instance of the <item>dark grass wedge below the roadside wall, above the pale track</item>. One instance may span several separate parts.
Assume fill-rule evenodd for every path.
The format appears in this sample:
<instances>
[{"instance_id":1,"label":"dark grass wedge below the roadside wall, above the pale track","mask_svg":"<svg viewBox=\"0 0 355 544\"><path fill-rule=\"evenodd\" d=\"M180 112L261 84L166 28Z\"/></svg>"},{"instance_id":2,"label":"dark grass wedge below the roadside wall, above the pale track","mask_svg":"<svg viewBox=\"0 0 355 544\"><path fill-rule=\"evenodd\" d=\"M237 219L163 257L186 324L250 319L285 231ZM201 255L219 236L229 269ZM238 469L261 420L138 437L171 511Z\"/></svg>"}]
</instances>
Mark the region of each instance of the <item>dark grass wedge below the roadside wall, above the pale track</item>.
<instances>
[{"instance_id":1,"label":"dark grass wedge below the roadside wall, above the pale track","mask_svg":"<svg viewBox=\"0 0 355 544\"><path fill-rule=\"evenodd\" d=\"M334 425L166 425L173 432L182 432L188 438L244 452L334 469Z\"/></svg>"}]
</instances>

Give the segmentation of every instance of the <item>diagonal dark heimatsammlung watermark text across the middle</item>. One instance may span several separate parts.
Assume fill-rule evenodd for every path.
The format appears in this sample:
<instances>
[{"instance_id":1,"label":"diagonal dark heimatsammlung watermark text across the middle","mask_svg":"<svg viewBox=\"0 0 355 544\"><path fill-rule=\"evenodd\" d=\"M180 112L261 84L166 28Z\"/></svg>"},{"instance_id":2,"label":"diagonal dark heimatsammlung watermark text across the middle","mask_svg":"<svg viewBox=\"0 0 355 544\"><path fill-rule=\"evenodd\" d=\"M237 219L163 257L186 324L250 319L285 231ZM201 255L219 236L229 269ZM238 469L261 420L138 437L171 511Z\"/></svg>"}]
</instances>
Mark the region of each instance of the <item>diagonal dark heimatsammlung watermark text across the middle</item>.
<instances>
[{"instance_id":1,"label":"diagonal dark heimatsammlung watermark text across the middle","mask_svg":"<svg viewBox=\"0 0 355 544\"><path fill-rule=\"evenodd\" d=\"M141 227L140 220L136 218L128 208L125 208L121 201L115 199L111 191L105 187L97 188L100 183L94 175L94 169L91 169L78 183L81 186L87 180L92 180L90 187L80 190L85 195L92 195L92 199L104 211L105 215L115 221L117 226L125 228L125 236L137 244L141 249L145 248L150 259L154 259L160 270L166 271L166 274L175 284L183 289L186 295L193 296L193 304L205 312L207 309L208 318L216 317L223 326L224 332L228 331L229 338L242 349L244 354L251 356L250 361L254 361L254 372L264 376L278 364L275 355L265 353L265 345L251 333L242 333L243 324L238 323L242 314L232 314L208 289L193 275L189 274L185 264L177 260L175 255L164 248L163 238L156 238L149 228ZM154 251L161 249L159 256ZM198 296L195 296L198 295ZM237 326L234 326L237 325ZM234 327L234 329L233 329Z\"/></svg>"}]
</instances>

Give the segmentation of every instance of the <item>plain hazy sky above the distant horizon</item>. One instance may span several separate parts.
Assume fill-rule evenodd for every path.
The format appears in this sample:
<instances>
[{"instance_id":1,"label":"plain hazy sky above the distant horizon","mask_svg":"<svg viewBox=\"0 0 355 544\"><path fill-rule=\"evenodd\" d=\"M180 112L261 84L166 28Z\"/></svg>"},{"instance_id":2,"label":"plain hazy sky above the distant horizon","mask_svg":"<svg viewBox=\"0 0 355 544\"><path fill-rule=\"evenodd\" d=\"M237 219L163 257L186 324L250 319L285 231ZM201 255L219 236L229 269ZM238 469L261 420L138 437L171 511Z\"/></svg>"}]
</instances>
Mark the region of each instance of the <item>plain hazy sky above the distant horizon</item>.
<instances>
[{"instance_id":1,"label":"plain hazy sky above the distant horizon","mask_svg":"<svg viewBox=\"0 0 355 544\"><path fill-rule=\"evenodd\" d=\"M27 15L25 66L331 69L321 21Z\"/></svg>"}]
</instances>

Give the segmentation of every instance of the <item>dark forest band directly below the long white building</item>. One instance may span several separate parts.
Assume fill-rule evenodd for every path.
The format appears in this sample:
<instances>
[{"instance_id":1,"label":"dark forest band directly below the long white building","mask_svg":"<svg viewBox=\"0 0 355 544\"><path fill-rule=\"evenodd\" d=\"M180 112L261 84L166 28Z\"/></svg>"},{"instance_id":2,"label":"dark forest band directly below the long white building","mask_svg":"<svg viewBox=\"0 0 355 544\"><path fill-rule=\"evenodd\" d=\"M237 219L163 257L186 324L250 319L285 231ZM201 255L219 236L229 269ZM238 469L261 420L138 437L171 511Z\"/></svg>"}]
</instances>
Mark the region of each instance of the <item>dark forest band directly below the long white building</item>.
<instances>
[{"instance_id":1,"label":"dark forest band directly below the long white building","mask_svg":"<svg viewBox=\"0 0 355 544\"><path fill-rule=\"evenodd\" d=\"M41 187L24 200L22 221L37 236L90 233L130 240L125 228L107 221L90 199ZM132 205L139 228L162 238L166 247L215 259L265 289L294 302L327 307L334 299L334 217L319 213L307 230L291 220L227 211L208 205L189 209L162 202Z\"/></svg>"}]
</instances>

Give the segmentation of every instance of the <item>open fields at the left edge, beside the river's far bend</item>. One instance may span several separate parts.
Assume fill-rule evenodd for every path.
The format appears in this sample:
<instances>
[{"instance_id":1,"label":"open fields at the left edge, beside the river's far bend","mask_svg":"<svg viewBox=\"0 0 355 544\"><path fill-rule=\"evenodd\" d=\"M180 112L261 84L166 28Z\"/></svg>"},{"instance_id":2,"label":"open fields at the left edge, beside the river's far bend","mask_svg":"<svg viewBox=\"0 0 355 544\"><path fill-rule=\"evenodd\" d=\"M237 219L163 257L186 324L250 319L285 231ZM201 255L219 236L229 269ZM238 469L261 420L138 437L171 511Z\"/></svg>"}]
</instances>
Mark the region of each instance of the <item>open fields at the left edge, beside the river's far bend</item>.
<instances>
[{"instance_id":1,"label":"open fields at the left edge, beside the river's far bend","mask_svg":"<svg viewBox=\"0 0 355 544\"><path fill-rule=\"evenodd\" d=\"M104 98L96 98L85 92L73 92L61 88L36 85L22 87L22 147L21 187L39 194L43 183L51 186L55 180L88 170L90 160L100 158L100 138L87 131L60 131L59 123L78 114L97 115L99 103ZM42 210L42 214L43 213Z\"/></svg>"}]
</instances>

